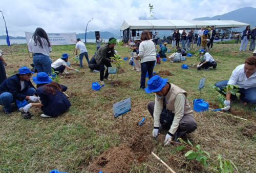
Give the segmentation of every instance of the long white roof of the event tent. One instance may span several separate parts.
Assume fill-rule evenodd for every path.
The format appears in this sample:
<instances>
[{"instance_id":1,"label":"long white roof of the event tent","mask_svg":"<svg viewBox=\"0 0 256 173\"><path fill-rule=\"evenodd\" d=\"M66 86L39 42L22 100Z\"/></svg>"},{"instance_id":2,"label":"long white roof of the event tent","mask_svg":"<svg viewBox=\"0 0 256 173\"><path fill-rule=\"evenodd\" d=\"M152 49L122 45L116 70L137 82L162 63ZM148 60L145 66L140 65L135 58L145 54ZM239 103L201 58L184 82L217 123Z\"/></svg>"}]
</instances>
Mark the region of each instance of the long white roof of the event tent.
<instances>
[{"instance_id":1,"label":"long white roof of the event tent","mask_svg":"<svg viewBox=\"0 0 256 173\"><path fill-rule=\"evenodd\" d=\"M206 26L215 26L218 29L246 27L249 24L234 20L124 20L120 30L127 28L135 30L174 30L200 29Z\"/></svg>"}]
</instances>

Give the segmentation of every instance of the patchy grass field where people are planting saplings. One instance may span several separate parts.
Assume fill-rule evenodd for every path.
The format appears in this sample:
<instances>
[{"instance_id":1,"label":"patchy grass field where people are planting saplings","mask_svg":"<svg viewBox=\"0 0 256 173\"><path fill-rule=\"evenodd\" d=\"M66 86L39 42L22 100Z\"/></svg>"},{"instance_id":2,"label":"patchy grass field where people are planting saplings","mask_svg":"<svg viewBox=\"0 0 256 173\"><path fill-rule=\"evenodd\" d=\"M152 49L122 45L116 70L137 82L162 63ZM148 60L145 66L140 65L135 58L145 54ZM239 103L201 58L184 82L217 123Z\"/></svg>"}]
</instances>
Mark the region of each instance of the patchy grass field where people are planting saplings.
<instances>
[{"instance_id":1,"label":"patchy grass field where people are planting saplings","mask_svg":"<svg viewBox=\"0 0 256 173\"><path fill-rule=\"evenodd\" d=\"M96 44L87 44L89 58L94 55ZM182 63L162 61L154 68L161 77L168 78L187 91L188 100L193 107L193 99L203 98L211 108L219 104L218 92L210 84L229 79L232 70L252 55L252 52L239 52L233 44L214 44L210 54L218 60L215 70L197 71L196 68L181 69ZM170 48L170 45L167 45ZM159 47L156 47L159 49ZM26 45L10 48L0 46L7 52L6 73L11 76L22 66L32 63ZM83 69L75 63L74 45L53 46L50 57L55 61L63 53L70 56L71 66L79 69L76 73L63 74L60 83L67 85L67 94L72 104L69 111L57 118L41 118L42 111L33 107L31 120L25 120L18 111L5 115L0 110L0 172L49 172L57 169L63 172L164 172L167 168L152 154L154 152L176 172L207 172L195 160L186 160L183 152L177 152L175 145L162 146L152 137L153 119L146 104L155 99L154 94L146 94L140 85L140 72L136 72L124 61L123 73L114 75L113 81L106 81L99 91L91 89L92 82L99 81L99 73L92 73L83 59ZM130 57L127 47L116 46L118 54ZM198 49L197 49L198 50ZM174 50L171 50L171 53ZM195 54L196 51L190 53ZM171 53L167 53L170 55ZM128 58L129 59L129 58ZM197 62L197 57L186 57L183 63ZM172 75L166 75L170 72ZM111 75L110 75L111 77ZM198 91L199 80L205 77L205 87ZM132 111L122 117L114 118L113 103L131 97ZM15 105L14 109L16 109ZM244 105L240 101L231 103L229 114L194 111L198 123L195 132L187 135L194 144L217 159L218 154L230 159L239 172L256 170L256 115L255 105ZM145 116L145 124L137 123ZM247 119L248 121L237 117ZM166 131L160 131L166 134ZM235 169L233 169L235 171Z\"/></svg>"}]
</instances>

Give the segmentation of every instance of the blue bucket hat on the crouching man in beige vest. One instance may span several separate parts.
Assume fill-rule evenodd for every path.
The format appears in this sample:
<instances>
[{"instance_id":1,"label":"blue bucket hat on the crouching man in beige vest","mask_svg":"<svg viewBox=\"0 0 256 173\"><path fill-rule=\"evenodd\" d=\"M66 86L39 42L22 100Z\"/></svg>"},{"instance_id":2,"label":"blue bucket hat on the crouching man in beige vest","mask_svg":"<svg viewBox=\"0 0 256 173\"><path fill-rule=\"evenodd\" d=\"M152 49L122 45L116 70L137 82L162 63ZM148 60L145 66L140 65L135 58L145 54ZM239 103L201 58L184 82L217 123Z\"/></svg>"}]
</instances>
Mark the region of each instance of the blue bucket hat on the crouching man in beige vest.
<instances>
[{"instance_id":1,"label":"blue bucket hat on the crouching man in beige vest","mask_svg":"<svg viewBox=\"0 0 256 173\"><path fill-rule=\"evenodd\" d=\"M146 93L158 92L162 90L168 79L162 79L160 76L155 75L147 81Z\"/></svg>"}]
</instances>

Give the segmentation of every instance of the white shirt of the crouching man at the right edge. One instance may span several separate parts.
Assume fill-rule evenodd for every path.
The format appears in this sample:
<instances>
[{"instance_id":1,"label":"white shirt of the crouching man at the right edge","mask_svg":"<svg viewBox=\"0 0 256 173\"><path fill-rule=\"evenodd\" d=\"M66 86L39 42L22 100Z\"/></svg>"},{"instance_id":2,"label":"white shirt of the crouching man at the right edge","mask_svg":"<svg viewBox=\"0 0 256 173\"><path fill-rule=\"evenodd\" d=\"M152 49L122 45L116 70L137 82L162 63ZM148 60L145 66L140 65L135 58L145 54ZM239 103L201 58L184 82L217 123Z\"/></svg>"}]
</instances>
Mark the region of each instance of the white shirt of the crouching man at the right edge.
<instances>
[{"instance_id":1,"label":"white shirt of the crouching man at the right edge","mask_svg":"<svg viewBox=\"0 0 256 173\"><path fill-rule=\"evenodd\" d=\"M227 84L236 84L239 85L239 88L246 90L249 88L256 88L256 72L247 78L244 71L244 64L242 64L233 70Z\"/></svg>"}]
</instances>

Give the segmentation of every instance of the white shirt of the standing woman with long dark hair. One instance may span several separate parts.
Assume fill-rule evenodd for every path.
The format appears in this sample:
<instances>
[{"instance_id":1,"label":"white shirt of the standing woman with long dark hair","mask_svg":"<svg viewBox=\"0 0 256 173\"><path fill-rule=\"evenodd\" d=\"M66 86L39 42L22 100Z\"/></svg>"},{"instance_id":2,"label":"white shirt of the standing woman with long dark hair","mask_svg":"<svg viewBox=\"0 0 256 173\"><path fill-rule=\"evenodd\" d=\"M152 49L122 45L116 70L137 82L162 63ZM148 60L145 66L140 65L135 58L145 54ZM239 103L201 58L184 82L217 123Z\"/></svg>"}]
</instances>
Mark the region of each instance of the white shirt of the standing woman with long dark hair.
<instances>
[{"instance_id":1,"label":"white shirt of the standing woman with long dark hair","mask_svg":"<svg viewBox=\"0 0 256 173\"><path fill-rule=\"evenodd\" d=\"M32 52L33 54L34 53L41 53L41 54L49 56L50 52L52 51L52 47L48 46L48 43L47 43L45 38L41 38L41 39L42 39L42 47L43 48L39 47L39 42L37 42L37 45L35 46L34 39L30 38L29 44L28 44L29 52Z\"/></svg>"}]
</instances>

